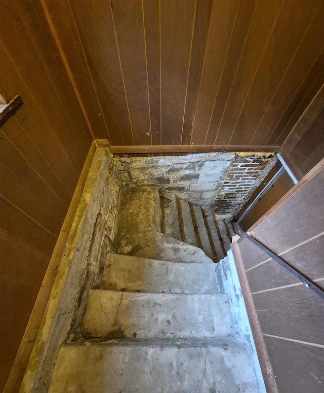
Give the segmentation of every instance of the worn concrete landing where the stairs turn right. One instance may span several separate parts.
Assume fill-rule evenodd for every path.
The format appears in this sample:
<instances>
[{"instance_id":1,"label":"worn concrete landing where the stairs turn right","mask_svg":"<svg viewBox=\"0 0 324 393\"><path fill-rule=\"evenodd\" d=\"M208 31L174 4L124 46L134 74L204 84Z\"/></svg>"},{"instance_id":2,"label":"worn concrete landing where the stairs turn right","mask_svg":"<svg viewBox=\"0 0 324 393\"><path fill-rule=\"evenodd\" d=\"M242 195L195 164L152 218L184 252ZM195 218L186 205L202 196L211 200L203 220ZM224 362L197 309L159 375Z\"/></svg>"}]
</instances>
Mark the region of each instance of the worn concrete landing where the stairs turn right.
<instances>
[{"instance_id":1,"label":"worn concrete landing where the stairs turn right","mask_svg":"<svg viewBox=\"0 0 324 393\"><path fill-rule=\"evenodd\" d=\"M118 254L174 262L212 263L199 248L160 233L161 211L155 187L126 189L120 201Z\"/></svg>"}]
</instances>

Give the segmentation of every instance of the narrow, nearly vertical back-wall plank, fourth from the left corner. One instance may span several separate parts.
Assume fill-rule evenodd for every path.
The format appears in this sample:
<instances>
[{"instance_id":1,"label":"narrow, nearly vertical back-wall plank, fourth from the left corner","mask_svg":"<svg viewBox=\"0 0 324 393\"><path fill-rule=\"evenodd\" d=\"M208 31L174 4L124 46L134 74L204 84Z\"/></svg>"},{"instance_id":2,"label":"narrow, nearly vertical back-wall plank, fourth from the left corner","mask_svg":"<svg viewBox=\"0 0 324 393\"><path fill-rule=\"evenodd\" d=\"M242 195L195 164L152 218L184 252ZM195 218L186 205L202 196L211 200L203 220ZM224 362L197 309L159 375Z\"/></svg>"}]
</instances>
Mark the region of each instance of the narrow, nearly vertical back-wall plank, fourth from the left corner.
<instances>
[{"instance_id":1,"label":"narrow, nearly vertical back-wall plank, fourth from the left corner","mask_svg":"<svg viewBox=\"0 0 324 393\"><path fill-rule=\"evenodd\" d=\"M160 17L159 2L143 0L148 95L152 144L160 145L161 139L161 91L160 91Z\"/></svg>"}]
</instances>

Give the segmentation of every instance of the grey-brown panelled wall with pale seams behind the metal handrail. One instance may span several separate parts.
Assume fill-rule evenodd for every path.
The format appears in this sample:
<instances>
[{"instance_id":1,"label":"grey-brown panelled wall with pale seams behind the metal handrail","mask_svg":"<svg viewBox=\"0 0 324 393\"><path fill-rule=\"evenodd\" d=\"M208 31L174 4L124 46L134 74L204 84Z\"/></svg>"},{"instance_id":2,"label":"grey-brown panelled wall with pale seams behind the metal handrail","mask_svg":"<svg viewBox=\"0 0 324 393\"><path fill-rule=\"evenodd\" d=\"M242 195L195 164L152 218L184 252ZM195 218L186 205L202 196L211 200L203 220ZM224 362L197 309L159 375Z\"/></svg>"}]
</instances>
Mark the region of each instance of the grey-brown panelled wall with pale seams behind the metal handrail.
<instances>
[{"instance_id":1,"label":"grey-brown panelled wall with pale seams behind the metal handrail","mask_svg":"<svg viewBox=\"0 0 324 393\"><path fill-rule=\"evenodd\" d=\"M250 230L324 289L324 159L284 198ZM247 238L238 247L279 392L322 391L323 299Z\"/></svg>"}]
</instances>

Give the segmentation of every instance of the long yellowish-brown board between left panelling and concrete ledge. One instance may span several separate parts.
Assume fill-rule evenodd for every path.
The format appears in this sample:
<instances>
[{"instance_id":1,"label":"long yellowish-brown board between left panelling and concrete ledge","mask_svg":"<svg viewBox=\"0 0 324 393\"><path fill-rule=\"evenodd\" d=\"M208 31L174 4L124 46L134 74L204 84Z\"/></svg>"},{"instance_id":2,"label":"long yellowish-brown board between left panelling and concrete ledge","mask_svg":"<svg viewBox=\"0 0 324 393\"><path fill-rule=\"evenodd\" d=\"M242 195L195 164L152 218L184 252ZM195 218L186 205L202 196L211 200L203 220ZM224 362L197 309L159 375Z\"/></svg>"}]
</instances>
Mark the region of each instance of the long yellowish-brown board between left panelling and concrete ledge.
<instances>
[{"instance_id":1,"label":"long yellowish-brown board between left panelling and concrete ledge","mask_svg":"<svg viewBox=\"0 0 324 393\"><path fill-rule=\"evenodd\" d=\"M30 314L24 336L20 343L14 364L12 366L11 372L9 374L9 378L7 380L4 389L4 393L13 393L19 391L19 387L23 380L24 373L30 358L30 354L32 352L32 348L38 333L38 329L41 326L43 315L54 284L54 280L58 269L58 264L60 263L64 252L65 244L71 229L71 225L74 220L77 207L79 205L81 195L83 193L87 181L88 173L96 149L97 149L97 145L95 141L93 141L89 149L82 172L80 174L79 180L77 182L67 214L65 216L63 226L61 228L56 245L54 247L54 251L50 259L48 268L46 270L41 288L39 289L35 304Z\"/></svg>"}]
</instances>

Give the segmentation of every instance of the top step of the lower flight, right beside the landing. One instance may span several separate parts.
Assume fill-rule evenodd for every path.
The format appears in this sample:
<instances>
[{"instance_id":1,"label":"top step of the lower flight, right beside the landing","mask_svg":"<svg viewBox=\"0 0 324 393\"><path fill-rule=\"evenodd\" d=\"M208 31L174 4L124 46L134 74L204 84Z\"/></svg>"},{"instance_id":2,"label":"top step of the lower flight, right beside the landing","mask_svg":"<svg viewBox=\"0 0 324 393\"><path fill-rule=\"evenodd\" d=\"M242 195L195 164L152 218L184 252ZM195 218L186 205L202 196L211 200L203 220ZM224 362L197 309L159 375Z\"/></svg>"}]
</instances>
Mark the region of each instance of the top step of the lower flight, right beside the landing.
<instances>
[{"instance_id":1,"label":"top step of the lower flight, right beside the landing","mask_svg":"<svg viewBox=\"0 0 324 393\"><path fill-rule=\"evenodd\" d=\"M176 196L172 193L160 191L160 201L164 233L181 240Z\"/></svg>"}]
</instances>

